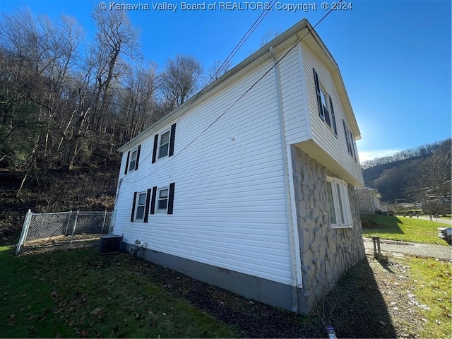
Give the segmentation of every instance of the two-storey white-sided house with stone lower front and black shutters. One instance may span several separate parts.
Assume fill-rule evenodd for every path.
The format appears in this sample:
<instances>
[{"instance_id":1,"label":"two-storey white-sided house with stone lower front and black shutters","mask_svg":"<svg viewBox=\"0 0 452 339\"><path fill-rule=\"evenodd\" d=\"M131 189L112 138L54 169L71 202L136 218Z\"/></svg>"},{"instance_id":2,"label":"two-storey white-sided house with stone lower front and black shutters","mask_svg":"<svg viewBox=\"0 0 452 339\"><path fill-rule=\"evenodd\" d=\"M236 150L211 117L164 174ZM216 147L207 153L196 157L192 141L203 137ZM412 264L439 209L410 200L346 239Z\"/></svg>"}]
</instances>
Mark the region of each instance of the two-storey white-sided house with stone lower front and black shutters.
<instances>
[{"instance_id":1,"label":"two-storey white-sided house with stone lower front and black shutters","mask_svg":"<svg viewBox=\"0 0 452 339\"><path fill-rule=\"evenodd\" d=\"M119 149L114 234L307 313L364 258L357 138L338 65L302 20Z\"/></svg>"}]
</instances>

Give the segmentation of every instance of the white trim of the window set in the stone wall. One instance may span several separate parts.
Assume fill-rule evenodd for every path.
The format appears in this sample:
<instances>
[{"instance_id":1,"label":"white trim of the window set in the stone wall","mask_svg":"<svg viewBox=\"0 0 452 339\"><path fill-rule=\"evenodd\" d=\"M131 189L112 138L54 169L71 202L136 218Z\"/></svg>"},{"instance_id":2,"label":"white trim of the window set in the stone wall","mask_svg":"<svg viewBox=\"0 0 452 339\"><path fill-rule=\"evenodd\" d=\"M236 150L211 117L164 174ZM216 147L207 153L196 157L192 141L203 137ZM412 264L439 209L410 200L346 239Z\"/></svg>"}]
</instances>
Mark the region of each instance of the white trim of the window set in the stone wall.
<instances>
[{"instance_id":1,"label":"white trim of the window set in the stone wall","mask_svg":"<svg viewBox=\"0 0 452 339\"><path fill-rule=\"evenodd\" d=\"M348 198L348 189L347 189L347 182L345 182L343 179L338 179L335 177L326 177L327 182L331 182L331 189L333 190L333 204L334 204L334 211L335 211L335 218L336 222L335 224L331 224L331 228L352 228L353 227L353 220L352 220L352 211L350 209L350 199ZM338 192L338 185L339 185L339 192ZM338 199L338 195L340 195L340 198L342 200L343 204L343 217L344 222L342 222L340 218L340 203ZM328 201L329 203L329 201Z\"/></svg>"}]
</instances>

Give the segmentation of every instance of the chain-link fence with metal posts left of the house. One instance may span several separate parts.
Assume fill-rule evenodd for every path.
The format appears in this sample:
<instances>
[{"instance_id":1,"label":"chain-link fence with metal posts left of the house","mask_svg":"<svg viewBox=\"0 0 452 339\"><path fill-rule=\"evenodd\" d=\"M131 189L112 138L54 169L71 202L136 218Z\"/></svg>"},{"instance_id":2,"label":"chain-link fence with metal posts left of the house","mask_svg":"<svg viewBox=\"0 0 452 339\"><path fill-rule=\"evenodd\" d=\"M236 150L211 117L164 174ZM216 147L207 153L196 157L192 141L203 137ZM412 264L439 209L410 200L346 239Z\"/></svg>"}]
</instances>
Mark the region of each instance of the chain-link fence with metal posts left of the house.
<instances>
[{"instance_id":1,"label":"chain-link fence with metal posts left of the house","mask_svg":"<svg viewBox=\"0 0 452 339\"><path fill-rule=\"evenodd\" d=\"M69 211L32 213L28 210L16 254L46 249L95 246L102 234L109 234L111 212Z\"/></svg>"}]
</instances>

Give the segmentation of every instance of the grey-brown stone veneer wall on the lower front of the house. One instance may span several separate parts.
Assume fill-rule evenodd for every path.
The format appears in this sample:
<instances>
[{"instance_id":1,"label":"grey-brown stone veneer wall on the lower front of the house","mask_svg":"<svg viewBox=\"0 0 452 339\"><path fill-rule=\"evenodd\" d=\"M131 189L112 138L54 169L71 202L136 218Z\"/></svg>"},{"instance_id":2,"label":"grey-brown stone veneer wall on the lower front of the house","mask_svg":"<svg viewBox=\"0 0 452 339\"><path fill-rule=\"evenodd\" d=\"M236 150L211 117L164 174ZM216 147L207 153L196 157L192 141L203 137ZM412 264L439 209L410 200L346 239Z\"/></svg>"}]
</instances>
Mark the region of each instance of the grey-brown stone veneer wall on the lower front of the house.
<instances>
[{"instance_id":1,"label":"grey-brown stone veneer wall on the lower front of the house","mask_svg":"<svg viewBox=\"0 0 452 339\"><path fill-rule=\"evenodd\" d=\"M326 176L335 175L295 145L291 152L302 261L299 312L307 313L346 270L364 258L364 244L355 189L348 186L353 227L331 228Z\"/></svg>"}]
</instances>

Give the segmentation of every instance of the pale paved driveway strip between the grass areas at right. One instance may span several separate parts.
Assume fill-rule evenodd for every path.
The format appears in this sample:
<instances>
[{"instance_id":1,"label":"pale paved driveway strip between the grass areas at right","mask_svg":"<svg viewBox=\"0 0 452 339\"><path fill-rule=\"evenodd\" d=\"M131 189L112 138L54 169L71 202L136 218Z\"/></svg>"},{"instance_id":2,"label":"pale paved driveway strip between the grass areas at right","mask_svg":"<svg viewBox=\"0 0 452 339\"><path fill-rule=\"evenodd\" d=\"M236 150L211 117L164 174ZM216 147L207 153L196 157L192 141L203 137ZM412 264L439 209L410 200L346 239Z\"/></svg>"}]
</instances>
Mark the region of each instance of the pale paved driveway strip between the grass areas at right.
<instances>
[{"instance_id":1,"label":"pale paved driveway strip between the grass areas at right","mask_svg":"<svg viewBox=\"0 0 452 339\"><path fill-rule=\"evenodd\" d=\"M374 254L374 244L371 238L364 239L367 254ZM414 242L396 242L394 240L380 240L381 252L391 252L396 255L411 254L415 256L429 256L452 261L452 247L433 244L417 244Z\"/></svg>"}]
</instances>

